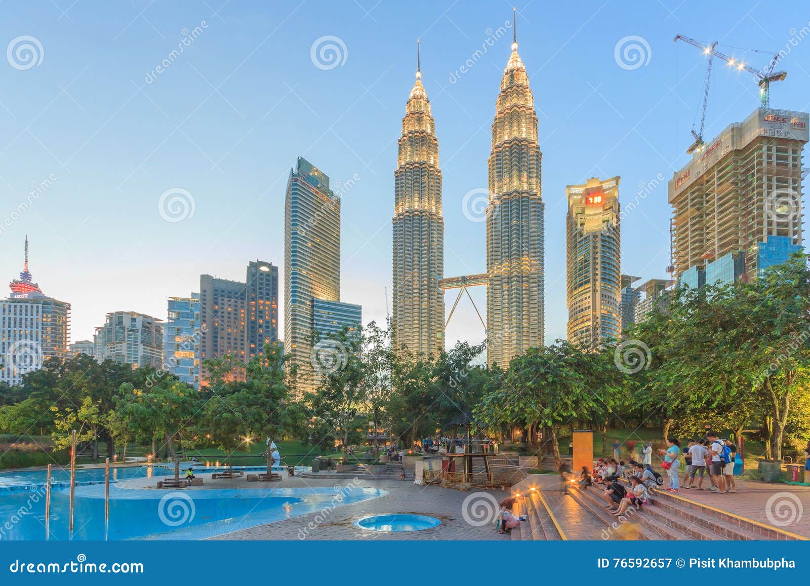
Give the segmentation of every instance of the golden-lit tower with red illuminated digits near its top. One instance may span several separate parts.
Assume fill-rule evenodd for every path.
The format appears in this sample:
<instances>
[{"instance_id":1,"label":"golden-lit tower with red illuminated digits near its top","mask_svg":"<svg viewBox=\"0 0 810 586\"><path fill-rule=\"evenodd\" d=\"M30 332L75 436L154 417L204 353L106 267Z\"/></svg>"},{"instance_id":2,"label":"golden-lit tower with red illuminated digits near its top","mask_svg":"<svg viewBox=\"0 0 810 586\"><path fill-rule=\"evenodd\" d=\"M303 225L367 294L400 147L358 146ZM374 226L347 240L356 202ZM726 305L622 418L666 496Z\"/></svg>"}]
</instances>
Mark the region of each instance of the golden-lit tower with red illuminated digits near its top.
<instances>
[{"instance_id":1,"label":"golden-lit tower with red illuminated digits near its top","mask_svg":"<svg viewBox=\"0 0 810 586\"><path fill-rule=\"evenodd\" d=\"M619 181L565 187L568 340L586 349L621 334Z\"/></svg>"}]
</instances>

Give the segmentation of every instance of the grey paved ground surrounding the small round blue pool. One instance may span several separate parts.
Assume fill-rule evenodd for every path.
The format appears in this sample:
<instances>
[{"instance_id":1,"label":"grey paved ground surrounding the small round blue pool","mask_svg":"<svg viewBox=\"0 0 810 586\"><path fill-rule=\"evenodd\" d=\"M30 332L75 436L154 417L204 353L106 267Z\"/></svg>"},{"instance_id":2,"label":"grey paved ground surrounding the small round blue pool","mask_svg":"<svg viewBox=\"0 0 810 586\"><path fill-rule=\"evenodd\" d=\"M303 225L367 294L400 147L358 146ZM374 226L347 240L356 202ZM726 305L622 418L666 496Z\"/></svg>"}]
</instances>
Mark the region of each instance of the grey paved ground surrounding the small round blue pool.
<instances>
[{"instance_id":1,"label":"grey paved ground surrounding the small round blue pool","mask_svg":"<svg viewBox=\"0 0 810 586\"><path fill-rule=\"evenodd\" d=\"M336 507L328 513L316 512L301 515L292 519L276 521L275 523L258 525L254 528L242 529L233 533L226 533L212 540L506 540L508 535L501 535L495 531L494 521L481 526L469 524L464 519L463 508L466 498L474 498L476 502L487 503L475 490L461 491L442 489L435 485L415 485L408 481L366 481L360 474L360 486L387 490L389 494L380 498L373 498L362 503ZM296 482L292 482L296 481ZM319 487L348 485L351 481L329 481L320 479L285 478L281 484L285 488L294 488L294 485ZM253 484L253 483L251 483ZM226 486L223 485L225 488ZM229 487L228 487L229 488ZM486 494L492 495L497 501L508 496L503 490L488 490ZM483 507L490 505L485 504ZM467 510L470 511L468 504ZM497 511L497 509L496 509ZM473 511L474 512L474 511ZM409 531L403 533L382 533L358 528L354 522L367 515L386 515L393 513L413 513L429 515L441 520L437 527L422 531ZM475 521L475 517L473 517Z\"/></svg>"}]
</instances>

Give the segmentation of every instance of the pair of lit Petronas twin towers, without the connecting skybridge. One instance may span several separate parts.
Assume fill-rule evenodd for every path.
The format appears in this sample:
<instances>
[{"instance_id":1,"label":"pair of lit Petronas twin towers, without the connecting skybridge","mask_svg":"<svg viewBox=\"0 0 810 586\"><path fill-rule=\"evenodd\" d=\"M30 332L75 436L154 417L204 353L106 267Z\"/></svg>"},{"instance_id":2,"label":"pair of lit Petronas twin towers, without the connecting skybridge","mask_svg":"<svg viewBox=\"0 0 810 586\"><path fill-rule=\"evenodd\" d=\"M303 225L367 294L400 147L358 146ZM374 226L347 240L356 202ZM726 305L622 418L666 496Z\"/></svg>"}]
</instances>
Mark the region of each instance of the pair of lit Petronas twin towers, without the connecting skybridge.
<instances>
[{"instance_id":1,"label":"pair of lit Petronas twin towers, without the connecting skybridge","mask_svg":"<svg viewBox=\"0 0 810 586\"><path fill-rule=\"evenodd\" d=\"M518 43L506 65L488 159L488 362L508 366L544 340L543 155L537 114ZM444 349L444 218L430 101L417 60L394 172L394 349L436 356Z\"/></svg>"}]
</instances>

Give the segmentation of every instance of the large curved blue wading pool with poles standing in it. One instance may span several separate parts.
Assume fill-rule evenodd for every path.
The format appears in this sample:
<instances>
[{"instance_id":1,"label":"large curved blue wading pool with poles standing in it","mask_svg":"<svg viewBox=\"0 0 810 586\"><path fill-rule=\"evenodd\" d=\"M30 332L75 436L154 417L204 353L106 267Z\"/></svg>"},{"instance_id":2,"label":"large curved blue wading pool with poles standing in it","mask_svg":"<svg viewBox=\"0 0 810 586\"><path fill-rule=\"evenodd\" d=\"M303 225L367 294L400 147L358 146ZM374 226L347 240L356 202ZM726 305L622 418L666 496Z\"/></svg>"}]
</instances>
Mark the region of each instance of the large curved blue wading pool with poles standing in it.
<instances>
[{"instance_id":1,"label":"large curved blue wading pool with poles standing in it","mask_svg":"<svg viewBox=\"0 0 810 586\"><path fill-rule=\"evenodd\" d=\"M169 476L168 468L117 468L110 485L109 525L104 523L104 470L77 471L74 540L198 540L307 515L324 507L359 503L388 494L349 485L334 488L245 488L211 490L143 490L126 488L136 477ZM155 468L155 467L150 467ZM158 472L158 474L155 474ZM60 472L60 475L62 472ZM0 477L5 474L0 474ZM11 476L11 475L10 475ZM45 539L45 473L14 473L0 489L0 541ZM53 474L56 477L56 473ZM33 478L33 480L32 480ZM28 481L28 485L24 484ZM37 483L40 481L40 483ZM23 482L23 484L20 484ZM67 485L67 483L65 483ZM26 490L27 489L27 490ZM70 539L69 490L52 491L50 539Z\"/></svg>"}]
</instances>

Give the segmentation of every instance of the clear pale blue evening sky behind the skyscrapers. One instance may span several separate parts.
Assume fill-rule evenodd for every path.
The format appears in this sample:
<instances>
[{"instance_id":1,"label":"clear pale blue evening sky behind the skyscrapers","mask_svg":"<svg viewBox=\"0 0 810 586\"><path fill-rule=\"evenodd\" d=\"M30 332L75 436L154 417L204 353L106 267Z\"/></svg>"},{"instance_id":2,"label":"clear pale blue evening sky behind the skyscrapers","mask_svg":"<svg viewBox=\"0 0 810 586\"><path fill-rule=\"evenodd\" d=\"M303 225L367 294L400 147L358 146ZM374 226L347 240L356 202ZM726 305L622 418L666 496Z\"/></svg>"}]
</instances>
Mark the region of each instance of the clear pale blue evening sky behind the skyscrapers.
<instances>
[{"instance_id":1,"label":"clear pale blue evening sky behind the skyscrapers","mask_svg":"<svg viewBox=\"0 0 810 586\"><path fill-rule=\"evenodd\" d=\"M283 196L296 156L343 196L342 298L364 319L385 319L397 138L422 40L444 173L445 276L484 271L484 224L462 199L487 185L490 124L511 32L475 57L511 19L509 2L3 2L0 49L34 36L41 62L0 58L0 224L32 182L56 178L0 231L0 277L21 269L23 237L46 294L73 304L73 340L91 338L112 310L165 318L166 297L198 289L199 275L243 279L250 259L283 263ZM620 199L688 156L706 58L672 42L778 51L787 80L772 105L810 107L806 2L518 2L519 51L539 112L546 203L546 337L565 337L565 185L621 175ZM205 21L203 27L202 23ZM169 55L183 29L202 32ZM318 68L313 42L337 36L341 64ZM625 36L642 36L649 62L617 65ZM19 41L23 42L23 41ZM18 43L19 44L19 43ZM35 46L35 50L39 49ZM343 49L341 49L342 51ZM725 52L765 66L765 53ZM646 52L646 49L645 49ZM164 59L171 64L147 83ZM451 78L471 59L474 64ZM757 107L751 75L718 63L706 136ZM164 191L194 198L194 215L167 222ZM669 262L666 182L621 226L622 272L664 277ZM7 289L6 289L7 293ZM3 293L3 296L6 295ZM475 297L484 306L484 290ZM453 295L447 295L448 306ZM282 330L283 331L283 330ZM469 303L447 332L484 336Z\"/></svg>"}]
</instances>

